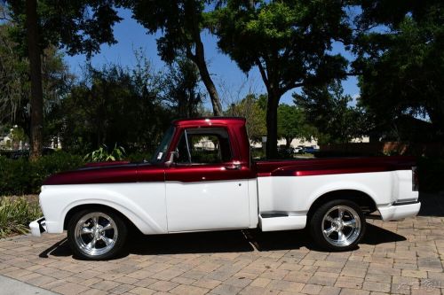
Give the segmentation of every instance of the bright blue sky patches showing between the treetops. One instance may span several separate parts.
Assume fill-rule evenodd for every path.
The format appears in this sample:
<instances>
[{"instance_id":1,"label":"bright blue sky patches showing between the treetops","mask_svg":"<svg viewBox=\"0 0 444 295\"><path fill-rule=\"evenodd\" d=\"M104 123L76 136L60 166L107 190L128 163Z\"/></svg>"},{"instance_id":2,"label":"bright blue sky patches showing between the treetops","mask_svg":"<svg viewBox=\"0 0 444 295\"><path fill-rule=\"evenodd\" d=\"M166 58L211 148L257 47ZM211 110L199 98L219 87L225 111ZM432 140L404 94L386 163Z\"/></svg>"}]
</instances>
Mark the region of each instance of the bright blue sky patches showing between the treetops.
<instances>
[{"instance_id":1,"label":"bright blue sky patches showing between the treetops","mask_svg":"<svg viewBox=\"0 0 444 295\"><path fill-rule=\"evenodd\" d=\"M99 54L91 58L93 66L106 64L118 64L132 67L136 60L134 50L142 50L158 71L162 71L166 66L157 55L155 43L156 35L147 35L147 31L139 23L131 19L131 12L119 10L119 15L123 20L114 27L115 40L113 45L102 44ZM158 36L158 35L157 35ZM250 73L244 74L228 56L218 50L217 38L213 35L203 33L202 42L205 49L205 58L208 62L211 77L218 88L222 105L228 105L242 99L249 92L266 93L266 87L262 82L257 67L251 69ZM345 51L339 43L333 44L332 52L339 52L345 58L352 59L349 52ZM84 55L66 56L65 60L71 71L80 74L81 67L85 63ZM352 97L359 96L359 88L355 77L349 77L343 82L345 94ZM204 89L202 85L202 89ZM297 89L289 90L281 97L281 103L292 104L291 94ZM210 109L210 98L204 102L205 107Z\"/></svg>"}]
</instances>

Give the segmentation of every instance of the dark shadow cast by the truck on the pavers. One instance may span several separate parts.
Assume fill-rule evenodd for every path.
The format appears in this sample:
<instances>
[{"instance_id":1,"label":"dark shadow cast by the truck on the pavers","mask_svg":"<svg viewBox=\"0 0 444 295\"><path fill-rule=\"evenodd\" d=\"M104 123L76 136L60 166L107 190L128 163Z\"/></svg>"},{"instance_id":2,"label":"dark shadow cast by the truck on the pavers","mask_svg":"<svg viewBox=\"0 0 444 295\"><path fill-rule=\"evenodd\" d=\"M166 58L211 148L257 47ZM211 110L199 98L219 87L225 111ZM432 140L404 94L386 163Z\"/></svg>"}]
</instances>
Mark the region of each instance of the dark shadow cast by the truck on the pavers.
<instances>
[{"instance_id":1,"label":"dark shadow cast by the truck on the pavers","mask_svg":"<svg viewBox=\"0 0 444 295\"><path fill-rule=\"evenodd\" d=\"M375 225L368 223L367 226L367 234L361 241L361 245L379 245L406 239L392 231ZM297 250L303 247L323 252L323 250L314 245L312 238L305 229L270 232L261 232L258 229L224 230L157 236L144 236L134 233L130 235L126 249L117 258L123 258L129 254L242 253L253 252L255 249L259 252L266 252ZM356 248L358 249L359 247ZM39 257L47 258L49 255L71 256L73 253L67 245L67 240L63 239L40 253Z\"/></svg>"}]
</instances>

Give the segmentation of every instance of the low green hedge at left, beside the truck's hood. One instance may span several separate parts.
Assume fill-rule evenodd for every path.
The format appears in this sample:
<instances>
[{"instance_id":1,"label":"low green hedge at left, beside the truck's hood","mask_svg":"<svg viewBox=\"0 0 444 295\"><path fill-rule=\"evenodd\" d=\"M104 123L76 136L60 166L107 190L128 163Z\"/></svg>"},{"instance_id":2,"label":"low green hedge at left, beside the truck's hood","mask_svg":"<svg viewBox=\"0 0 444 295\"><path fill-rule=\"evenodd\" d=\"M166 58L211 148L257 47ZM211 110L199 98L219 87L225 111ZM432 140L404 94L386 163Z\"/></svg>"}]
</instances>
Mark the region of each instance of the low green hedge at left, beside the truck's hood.
<instances>
[{"instance_id":1,"label":"low green hedge at left, beside the truck's hood","mask_svg":"<svg viewBox=\"0 0 444 295\"><path fill-rule=\"evenodd\" d=\"M25 158L0 157L0 191L4 195L37 193L50 175L82 165L82 157L64 151L56 151L33 162Z\"/></svg>"}]
</instances>

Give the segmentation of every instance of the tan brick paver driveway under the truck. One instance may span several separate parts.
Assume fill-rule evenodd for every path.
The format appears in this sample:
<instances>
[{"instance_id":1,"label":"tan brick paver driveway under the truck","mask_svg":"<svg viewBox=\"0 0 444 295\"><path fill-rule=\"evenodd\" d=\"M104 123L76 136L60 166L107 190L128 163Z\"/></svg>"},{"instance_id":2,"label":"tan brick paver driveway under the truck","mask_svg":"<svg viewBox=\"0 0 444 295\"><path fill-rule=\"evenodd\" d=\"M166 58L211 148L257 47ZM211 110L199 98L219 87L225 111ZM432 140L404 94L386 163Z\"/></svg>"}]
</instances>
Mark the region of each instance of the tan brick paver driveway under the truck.
<instances>
[{"instance_id":1,"label":"tan brick paver driveway under the truck","mask_svg":"<svg viewBox=\"0 0 444 295\"><path fill-rule=\"evenodd\" d=\"M120 258L83 261L65 235L20 236L0 240L0 275L63 294L440 294L444 202L429 197L417 218L369 219L353 252L321 252L304 230L245 230L132 237Z\"/></svg>"}]
</instances>

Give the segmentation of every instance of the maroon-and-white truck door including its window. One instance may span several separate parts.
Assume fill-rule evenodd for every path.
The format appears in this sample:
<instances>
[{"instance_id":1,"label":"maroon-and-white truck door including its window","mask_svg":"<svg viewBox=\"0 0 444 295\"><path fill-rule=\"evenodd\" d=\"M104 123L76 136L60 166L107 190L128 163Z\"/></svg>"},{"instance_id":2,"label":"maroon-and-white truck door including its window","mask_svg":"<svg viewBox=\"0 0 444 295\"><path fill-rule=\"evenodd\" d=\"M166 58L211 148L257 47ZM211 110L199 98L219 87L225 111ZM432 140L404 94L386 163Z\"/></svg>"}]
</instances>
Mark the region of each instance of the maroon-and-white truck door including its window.
<instances>
[{"instance_id":1,"label":"maroon-and-white truck door including its window","mask_svg":"<svg viewBox=\"0 0 444 295\"><path fill-rule=\"evenodd\" d=\"M165 169L168 231L250 225L249 167L234 160L226 128L185 128Z\"/></svg>"}]
</instances>

